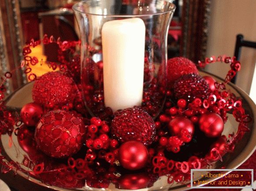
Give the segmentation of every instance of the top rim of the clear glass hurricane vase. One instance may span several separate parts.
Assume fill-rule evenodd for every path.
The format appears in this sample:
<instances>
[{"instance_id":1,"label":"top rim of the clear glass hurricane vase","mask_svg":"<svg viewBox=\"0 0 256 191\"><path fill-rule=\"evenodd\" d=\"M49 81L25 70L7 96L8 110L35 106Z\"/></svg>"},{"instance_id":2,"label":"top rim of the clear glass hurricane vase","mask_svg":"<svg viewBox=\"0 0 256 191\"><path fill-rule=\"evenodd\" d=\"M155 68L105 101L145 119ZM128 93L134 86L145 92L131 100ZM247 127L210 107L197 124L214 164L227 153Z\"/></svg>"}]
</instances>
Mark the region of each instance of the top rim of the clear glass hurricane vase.
<instances>
[{"instance_id":1,"label":"top rim of the clear glass hurricane vase","mask_svg":"<svg viewBox=\"0 0 256 191\"><path fill-rule=\"evenodd\" d=\"M85 11L80 11L78 9L79 6L81 6L82 4L85 4L86 2L89 2L89 1L91 1L91 0L82 0L82 1L74 4L72 6L72 9L74 10L74 12L78 12L80 14L88 14L88 15L103 16L103 17L116 17L116 18L132 18L132 17L145 17L145 16L162 15L162 14L166 14L166 13L175 11L175 9L176 9L176 6L168 0L163 0L163 1L166 1L167 3L172 5L168 11L156 12L156 13L152 13L152 14L95 14L95 13L88 13L88 12L85 12Z\"/></svg>"}]
</instances>

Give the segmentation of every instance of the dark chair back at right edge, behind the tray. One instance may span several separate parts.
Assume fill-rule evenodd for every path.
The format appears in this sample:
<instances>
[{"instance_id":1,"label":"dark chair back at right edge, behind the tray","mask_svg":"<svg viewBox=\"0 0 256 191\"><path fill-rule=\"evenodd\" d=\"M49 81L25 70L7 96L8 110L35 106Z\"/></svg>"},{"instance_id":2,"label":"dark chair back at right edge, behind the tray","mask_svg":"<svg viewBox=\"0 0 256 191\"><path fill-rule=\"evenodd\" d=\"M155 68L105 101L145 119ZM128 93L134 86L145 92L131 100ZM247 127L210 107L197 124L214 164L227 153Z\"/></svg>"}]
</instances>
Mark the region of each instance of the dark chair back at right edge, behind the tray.
<instances>
[{"instance_id":1,"label":"dark chair back at right edge, behind the tray","mask_svg":"<svg viewBox=\"0 0 256 191\"><path fill-rule=\"evenodd\" d=\"M244 36L242 34L237 35L234 56L238 61L240 60L242 47L256 48L256 42L244 40ZM231 80L232 83L236 83L236 77L237 76L234 76Z\"/></svg>"}]
</instances>

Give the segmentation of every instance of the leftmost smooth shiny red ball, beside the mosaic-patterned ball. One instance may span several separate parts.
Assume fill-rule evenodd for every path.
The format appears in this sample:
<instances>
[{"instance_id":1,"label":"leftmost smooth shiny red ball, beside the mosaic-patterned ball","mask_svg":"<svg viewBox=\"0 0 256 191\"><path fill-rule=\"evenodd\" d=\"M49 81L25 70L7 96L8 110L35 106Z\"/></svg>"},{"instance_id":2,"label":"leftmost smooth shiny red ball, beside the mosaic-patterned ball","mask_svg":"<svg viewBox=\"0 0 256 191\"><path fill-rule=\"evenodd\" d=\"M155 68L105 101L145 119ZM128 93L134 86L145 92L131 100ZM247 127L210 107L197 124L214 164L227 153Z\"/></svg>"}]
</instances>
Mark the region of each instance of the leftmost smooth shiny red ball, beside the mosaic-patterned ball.
<instances>
[{"instance_id":1,"label":"leftmost smooth shiny red ball, beside the mosaic-patterned ball","mask_svg":"<svg viewBox=\"0 0 256 191\"><path fill-rule=\"evenodd\" d=\"M28 103L22 107L20 117L26 126L36 126L43 114L44 111L40 105Z\"/></svg>"}]
</instances>

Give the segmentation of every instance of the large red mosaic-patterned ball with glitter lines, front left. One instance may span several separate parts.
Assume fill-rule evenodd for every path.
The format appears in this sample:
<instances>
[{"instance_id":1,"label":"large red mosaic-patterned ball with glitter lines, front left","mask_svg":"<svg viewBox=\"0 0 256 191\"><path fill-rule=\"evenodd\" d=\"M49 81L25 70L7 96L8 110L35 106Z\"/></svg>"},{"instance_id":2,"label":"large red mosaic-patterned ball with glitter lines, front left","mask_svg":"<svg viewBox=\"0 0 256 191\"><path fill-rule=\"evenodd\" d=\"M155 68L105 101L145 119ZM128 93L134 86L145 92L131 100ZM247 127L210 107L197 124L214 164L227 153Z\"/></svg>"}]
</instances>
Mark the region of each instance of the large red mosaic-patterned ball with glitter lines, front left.
<instances>
[{"instance_id":1,"label":"large red mosaic-patterned ball with glitter lines, front left","mask_svg":"<svg viewBox=\"0 0 256 191\"><path fill-rule=\"evenodd\" d=\"M80 150L85 135L82 119L64 110L46 113L37 124L38 148L54 158L65 158Z\"/></svg>"}]
</instances>

